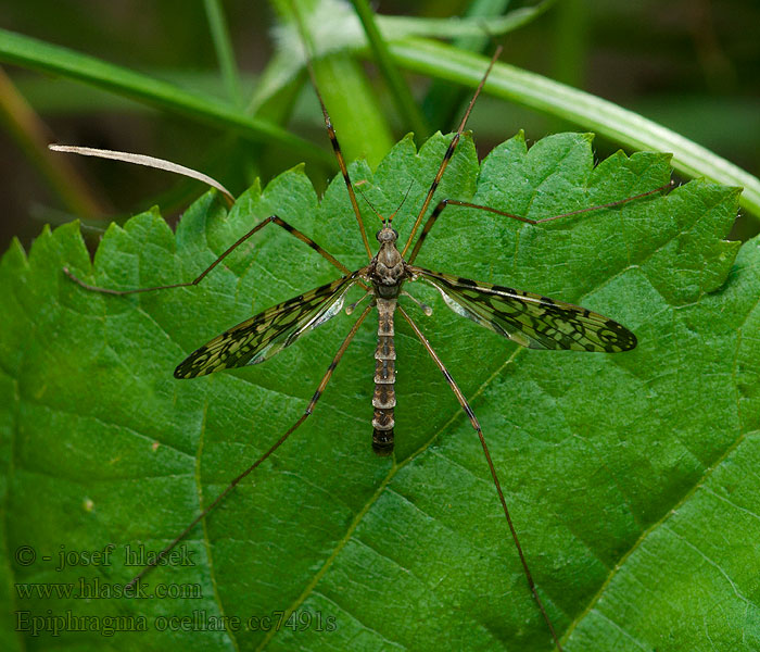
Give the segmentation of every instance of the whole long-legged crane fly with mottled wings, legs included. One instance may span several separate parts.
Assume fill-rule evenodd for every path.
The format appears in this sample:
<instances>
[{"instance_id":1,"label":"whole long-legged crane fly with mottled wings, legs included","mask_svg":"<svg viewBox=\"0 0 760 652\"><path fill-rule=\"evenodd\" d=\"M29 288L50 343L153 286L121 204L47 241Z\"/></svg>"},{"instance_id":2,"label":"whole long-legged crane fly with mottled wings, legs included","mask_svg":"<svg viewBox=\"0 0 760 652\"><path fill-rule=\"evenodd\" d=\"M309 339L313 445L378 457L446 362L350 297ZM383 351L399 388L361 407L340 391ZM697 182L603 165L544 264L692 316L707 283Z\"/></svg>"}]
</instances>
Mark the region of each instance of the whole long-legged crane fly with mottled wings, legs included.
<instances>
[{"instance_id":1,"label":"whole long-legged crane fly with mottled wings, legs included","mask_svg":"<svg viewBox=\"0 0 760 652\"><path fill-rule=\"evenodd\" d=\"M398 301L401 298L403 298L403 296L406 296L403 288L407 283L411 284L416 281L425 281L440 292L444 303L455 313L467 317L480 326L483 326L499 336L506 337L522 347L531 349L572 350L600 353L620 353L630 351L636 347L636 337L628 328L609 317L592 312L585 308L565 303L562 301L557 301L540 294L427 269L415 265L415 260L419 254L428 234L447 206L456 205L465 209L487 211L496 215L535 225L587 211L617 206L629 201L660 192L668 188L669 185L607 204L581 209L570 213L554 215L541 220L532 220L507 213L495 208L455 199L440 200L434 204L433 210L429 212L439 184L457 148L457 143L465 131L470 112L472 111L478 96L483 89L489 73L498 58L499 51L501 49L496 51L494 58L491 60L491 63L476 92L473 93L456 133L448 143L448 148L446 149L446 152L439 164L438 172L430 184L427 195L425 196L425 200L417 212L410 234L403 247L398 241L398 233L393 228L393 217L395 216L395 213L388 217L383 217L378 213L378 216L381 218L381 227L376 234L376 240L378 243L377 252L372 251L364 222L362 220L354 185L349 176L347 167L338 142L335 130L332 127L330 116L325 108L321 96L317 90L317 98L321 106L328 136L330 138L338 165L343 175L349 199L358 223L362 240L368 256L368 263L359 269L349 269L327 250L317 244L317 242L315 242L312 238L288 224L278 215L270 215L254 226L238 241L231 244L197 278L189 283L132 290L115 290L88 285L77 278L68 268L64 268L66 275L79 284L83 288L90 291L110 294L123 296L137 292L165 290L177 287L195 286L201 283L203 278L205 278L205 276L214 269L214 267L216 267L240 244L245 242L249 238L268 224L275 224L314 249L341 272L342 276L340 278L271 306L264 312L245 319L237 326L233 326L207 343L203 344L177 366L174 375L179 379L195 378L223 369L258 364L268 360L282 349L293 344L306 333L317 328L335 315L340 314L344 305L346 293L354 286L360 286L364 288L365 297L370 298L369 303L362 310L359 316L355 319L353 326L349 330L349 334L340 344L334 358L332 359L332 362L322 376L312 400L301 417L293 423L292 426L288 428L261 457L258 457L253 464L248 466L242 473L232 479L226 489L221 491L221 493L219 493L172 542L169 542L153 559L152 563L145 566L142 572L131 580L130 584L138 581L151 567L159 564L160 561L185 536L187 536L188 532L190 532L190 530L192 530L201 519L208 515L208 513L214 510L214 507L216 507L216 505L219 504L219 502L223 501L224 498L230 493L243 478L245 478L267 457L269 457L290 437L290 435L292 435L293 431L295 431L304 423L304 421L306 421L306 418L313 413L317 402L325 391L325 388L332 377L335 367L341 361L341 358L358 331L359 326L372 310L377 310L378 315L377 348L375 350L375 391L371 401L372 449L379 455L392 454L395 435L394 411L396 408L394 387L396 376L396 350L394 335L395 317L396 313L398 313L401 317L410 326L415 336L419 339L422 347L443 374L446 383L451 387L456 400L467 415L469 423L479 438L483 455L489 466L491 478L501 503L507 529L509 530L520 560L522 572L533 594L533 599L535 600L542 617L546 623L546 627L552 636L554 644L556 645L557 650L561 652L562 648L559 637L555 631L552 619L547 614L547 611L536 590L535 582L533 581L525 555L520 544L517 530L512 523L507 502L504 497L504 492L502 490L496 467L492 461L491 453L478 417L459 389L459 386L456 384L453 376L439 358L438 353L433 350L432 346L425 337L422 330L409 316L406 310L404 310L404 308L398 303ZM308 62L307 68L314 82L314 74ZM425 224L422 224L423 221ZM420 227L422 227L421 231ZM418 233L419 237L415 239ZM355 305L356 304L350 308L353 309ZM350 312L351 311L346 309L346 313Z\"/></svg>"}]
</instances>

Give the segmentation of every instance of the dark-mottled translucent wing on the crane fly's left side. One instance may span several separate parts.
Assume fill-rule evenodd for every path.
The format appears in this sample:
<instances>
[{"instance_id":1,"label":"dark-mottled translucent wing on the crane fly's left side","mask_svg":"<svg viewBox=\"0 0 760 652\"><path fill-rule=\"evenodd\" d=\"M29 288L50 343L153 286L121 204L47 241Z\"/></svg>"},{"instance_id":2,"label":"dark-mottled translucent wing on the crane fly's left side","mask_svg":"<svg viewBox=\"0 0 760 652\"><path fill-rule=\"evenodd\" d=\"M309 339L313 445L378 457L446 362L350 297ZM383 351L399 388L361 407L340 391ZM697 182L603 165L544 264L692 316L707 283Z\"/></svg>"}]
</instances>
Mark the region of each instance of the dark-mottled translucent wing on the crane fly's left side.
<instances>
[{"instance_id":1,"label":"dark-mottled translucent wing on the crane fly's left side","mask_svg":"<svg viewBox=\"0 0 760 652\"><path fill-rule=\"evenodd\" d=\"M233 326L191 353L175 369L175 378L194 378L264 362L307 330L334 317L357 274L288 299Z\"/></svg>"}]
</instances>

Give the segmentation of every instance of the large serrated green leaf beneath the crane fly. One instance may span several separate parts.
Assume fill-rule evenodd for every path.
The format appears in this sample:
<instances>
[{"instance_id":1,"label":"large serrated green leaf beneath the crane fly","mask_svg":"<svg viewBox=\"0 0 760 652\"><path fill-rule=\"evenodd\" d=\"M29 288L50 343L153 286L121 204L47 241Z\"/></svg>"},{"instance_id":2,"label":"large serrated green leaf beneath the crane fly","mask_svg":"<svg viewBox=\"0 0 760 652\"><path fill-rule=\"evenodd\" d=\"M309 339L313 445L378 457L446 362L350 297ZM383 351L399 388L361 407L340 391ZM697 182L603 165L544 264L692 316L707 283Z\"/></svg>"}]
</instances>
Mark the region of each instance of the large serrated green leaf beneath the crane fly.
<instances>
[{"instance_id":1,"label":"large serrated green leaf beneath the crane fly","mask_svg":"<svg viewBox=\"0 0 760 652\"><path fill-rule=\"evenodd\" d=\"M394 220L402 240L447 142L433 137L418 154L406 138L375 173L351 166L382 214L408 191ZM464 139L436 197L541 217L668 177L662 154L594 167L587 135L530 150L517 136L482 167ZM638 337L617 355L529 351L408 287L434 306L429 318L408 310L471 400L567 651L760 644L760 241L734 260L738 244L722 238L736 206L735 189L697 181L539 227L451 208L418 259L581 303ZM360 208L375 233L377 216ZM28 258L17 244L4 255L3 649L552 650L478 439L402 319L394 459L370 448L368 319L313 416L180 544L185 557L145 578L149 591L201 597L20 597L18 585L37 590L29 582L128 581L138 567L125 566L126 547L161 549L266 451L303 413L352 323L341 315L258 366L177 380L197 347L338 271L275 227L194 288L102 296L61 268L111 288L188 280L271 213L350 267L366 262L342 179L319 203L300 167L253 187L229 215L204 196L176 236L157 211L112 226L93 268L76 224L46 230ZM61 550L109 543L109 565L55 569ZM277 628L292 610L294 628ZM106 616L143 616L147 631L28 630L33 616L66 614L63 629L71 615L101 629L114 625ZM198 630L223 615L241 623Z\"/></svg>"}]
</instances>

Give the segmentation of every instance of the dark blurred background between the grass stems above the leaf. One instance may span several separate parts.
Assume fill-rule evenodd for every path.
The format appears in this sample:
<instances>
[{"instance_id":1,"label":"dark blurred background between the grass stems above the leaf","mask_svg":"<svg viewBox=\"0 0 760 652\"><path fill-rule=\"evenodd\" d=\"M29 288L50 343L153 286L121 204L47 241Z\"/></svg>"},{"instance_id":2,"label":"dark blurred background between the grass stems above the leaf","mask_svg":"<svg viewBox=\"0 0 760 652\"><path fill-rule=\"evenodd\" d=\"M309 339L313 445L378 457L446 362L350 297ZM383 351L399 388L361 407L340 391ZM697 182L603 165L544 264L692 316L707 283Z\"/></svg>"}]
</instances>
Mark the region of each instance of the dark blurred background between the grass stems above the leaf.
<instances>
[{"instance_id":1,"label":"dark blurred background between the grass stems above the leaf","mask_svg":"<svg viewBox=\"0 0 760 652\"><path fill-rule=\"evenodd\" d=\"M380 14L463 15L466 0L418 2L382 0ZM530 5L531 3L522 3ZM520 7L510 2L509 9ZM269 3L221 3L235 58L242 75L243 104L274 51L276 23ZM25 0L0 7L0 26L107 62L170 80L183 88L228 100L219 74L204 3L187 0ZM661 123L713 150L751 174L760 174L760 2L757 0L559 0L542 16L499 37L502 61L582 88ZM377 78L375 68L368 71ZM254 174L264 180L300 162L297 152L242 140L194 121L168 115L83 84L5 67L12 85L41 117L49 140L147 153L214 176L235 193ZM407 76L423 101L430 80ZM7 92L8 89L5 89ZM465 91L468 97L470 91ZM328 148L313 96L302 93L287 106L282 124ZM388 112L394 136L410 127L395 116L378 80L378 102ZM452 118L428 115L433 129L449 130ZM573 125L483 97L469 123L481 155L520 128L529 142ZM618 146L595 142L598 158ZM13 236L25 247L42 224L75 215L0 122L0 191L4 214L0 246ZM98 214L124 220L154 203L168 220L204 191L190 183L123 163L73 160ZM318 187L333 168L311 162ZM760 230L755 218L739 221L734 236ZM96 231L97 233L97 231Z\"/></svg>"}]
</instances>

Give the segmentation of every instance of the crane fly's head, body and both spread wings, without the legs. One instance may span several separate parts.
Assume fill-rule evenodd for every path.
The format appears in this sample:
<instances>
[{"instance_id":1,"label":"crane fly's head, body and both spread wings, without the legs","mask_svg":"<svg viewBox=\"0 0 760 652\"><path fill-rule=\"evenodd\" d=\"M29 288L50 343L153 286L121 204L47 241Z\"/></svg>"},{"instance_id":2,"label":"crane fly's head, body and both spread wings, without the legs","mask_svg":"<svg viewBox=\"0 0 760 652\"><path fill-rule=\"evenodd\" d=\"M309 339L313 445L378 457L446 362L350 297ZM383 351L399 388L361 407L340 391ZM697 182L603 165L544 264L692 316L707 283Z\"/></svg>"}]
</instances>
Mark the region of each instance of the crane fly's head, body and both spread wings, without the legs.
<instances>
[{"instance_id":1,"label":"crane fly's head, body and both spread wings, without the legs","mask_svg":"<svg viewBox=\"0 0 760 652\"><path fill-rule=\"evenodd\" d=\"M428 281L454 312L523 347L616 353L636 346L636 337L624 326L585 308L411 265L398 251L397 238L398 233L385 221L377 233L380 249L366 267L293 297L223 333L189 355L176 368L175 377L194 378L264 362L339 314L349 289L364 280L373 298L369 308L378 310L372 449L388 455L393 452L396 405L394 317L407 280ZM445 369L444 375L451 381Z\"/></svg>"}]
</instances>

